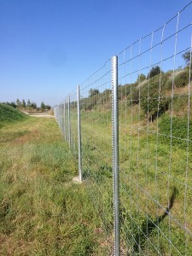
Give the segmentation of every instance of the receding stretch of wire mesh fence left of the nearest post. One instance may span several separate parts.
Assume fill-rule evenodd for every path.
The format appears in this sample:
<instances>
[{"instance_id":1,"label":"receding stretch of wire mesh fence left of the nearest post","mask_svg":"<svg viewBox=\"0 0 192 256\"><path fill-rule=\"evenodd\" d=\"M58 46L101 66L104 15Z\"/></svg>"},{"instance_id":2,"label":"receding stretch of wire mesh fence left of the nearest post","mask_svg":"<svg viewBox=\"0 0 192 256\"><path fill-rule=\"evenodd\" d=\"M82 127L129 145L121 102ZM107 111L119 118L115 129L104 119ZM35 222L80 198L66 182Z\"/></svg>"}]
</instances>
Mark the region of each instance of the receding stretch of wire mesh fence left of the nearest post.
<instances>
[{"instance_id":1,"label":"receding stretch of wire mesh fence left of the nearest post","mask_svg":"<svg viewBox=\"0 0 192 256\"><path fill-rule=\"evenodd\" d=\"M79 179L84 180L96 209L98 230L104 234L102 255L113 252L111 65L111 60L106 61L80 84L80 91L77 88L66 97L64 107L63 103L55 106L63 137L73 154L80 156L79 169L83 166L83 172Z\"/></svg>"}]
</instances>

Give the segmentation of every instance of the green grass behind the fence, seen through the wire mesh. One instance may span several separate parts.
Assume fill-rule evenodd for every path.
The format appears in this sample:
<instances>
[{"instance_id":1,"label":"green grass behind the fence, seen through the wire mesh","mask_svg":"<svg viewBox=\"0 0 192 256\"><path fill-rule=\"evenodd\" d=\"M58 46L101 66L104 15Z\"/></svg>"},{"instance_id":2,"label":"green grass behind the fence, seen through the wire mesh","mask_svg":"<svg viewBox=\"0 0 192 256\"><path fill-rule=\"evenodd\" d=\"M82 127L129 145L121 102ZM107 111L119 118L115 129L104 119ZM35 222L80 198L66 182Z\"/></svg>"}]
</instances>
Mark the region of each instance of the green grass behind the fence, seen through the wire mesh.
<instances>
[{"instance_id":1,"label":"green grass behind the fence, seen through the wire mesh","mask_svg":"<svg viewBox=\"0 0 192 256\"><path fill-rule=\"evenodd\" d=\"M173 113L176 107L175 104ZM142 109L140 111L139 115L138 105L131 107L119 102L122 254L156 255L159 250L161 255L169 255L169 252L172 255L180 255L179 252L190 255L192 239L184 230L185 225L189 230L192 226L192 193L189 189L192 186L192 154L187 110L181 108L172 119L171 114L166 112L149 124ZM75 115L72 114L72 117ZM191 119L189 127L190 123ZM77 125L74 120L73 125ZM113 232L110 117L99 108L82 111L81 125L84 178L87 183L95 184L97 194L93 201L95 207L100 201L103 209L99 211L100 218L108 236ZM186 177L187 159L189 173ZM108 197L108 206L102 197L102 189L105 191L104 198ZM169 218L166 209L171 212L172 218Z\"/></svg>"}]
</instances>

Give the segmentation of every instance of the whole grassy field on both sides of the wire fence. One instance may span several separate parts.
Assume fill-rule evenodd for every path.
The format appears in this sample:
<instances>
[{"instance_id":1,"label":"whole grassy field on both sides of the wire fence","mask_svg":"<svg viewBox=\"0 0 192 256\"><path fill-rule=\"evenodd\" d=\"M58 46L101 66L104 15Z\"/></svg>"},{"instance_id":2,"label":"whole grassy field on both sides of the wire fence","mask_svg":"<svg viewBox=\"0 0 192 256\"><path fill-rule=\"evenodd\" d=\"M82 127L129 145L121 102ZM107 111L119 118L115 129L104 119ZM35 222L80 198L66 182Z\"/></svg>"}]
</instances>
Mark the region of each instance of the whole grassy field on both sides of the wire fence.
<instances>
[{"instance_id":1,"label":"whole grassy field on both sides of the wire fence","mask_svg":"<svg viewBox=\"0 0 192 256\"><path fill-rule=\"evenodd\" d=\"M143 96L144 108L131 102L136 87L119 99L121 255L192 254L188 88L176 89L171 102L169 85L153 122L146 106L151 104L155 116L156 98L146 102ZM146 88L141 90L147 94ZM111 110L102 96L98 100L90 106L92 99L84 99L81 111L81 185L72 183L78 174L76 108L71 109L71 150L55 119L3 121L0 254L112 255Z\"/></svg>"}]
</instances>

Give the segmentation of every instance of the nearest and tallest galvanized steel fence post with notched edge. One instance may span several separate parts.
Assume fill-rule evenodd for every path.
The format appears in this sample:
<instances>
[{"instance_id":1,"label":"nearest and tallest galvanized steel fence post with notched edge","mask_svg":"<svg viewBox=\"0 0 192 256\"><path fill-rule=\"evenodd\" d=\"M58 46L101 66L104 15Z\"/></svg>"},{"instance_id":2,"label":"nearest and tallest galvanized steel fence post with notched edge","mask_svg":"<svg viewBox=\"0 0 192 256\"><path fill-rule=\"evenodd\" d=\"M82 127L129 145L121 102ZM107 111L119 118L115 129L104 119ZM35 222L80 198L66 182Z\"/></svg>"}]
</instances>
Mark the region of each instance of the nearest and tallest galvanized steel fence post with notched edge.
<instances>
[{"instance_id":1,"label":"nearest and tallest galvanized steel fence post with notched edge","mask_svg":"<svg viewBox=\"0 0 192 256\"><path fill-rule=\"evenodd\" d=\"M120 255L119 228L119 108L118 108L118 57L112 57L112 121L113 121L113 225L114 255Z\"/></svg>"}]
</instances>

